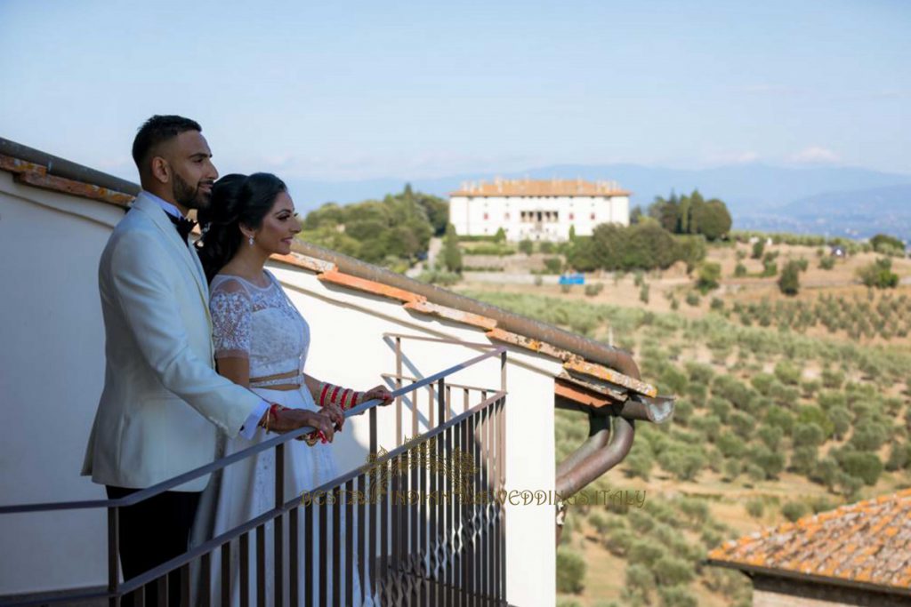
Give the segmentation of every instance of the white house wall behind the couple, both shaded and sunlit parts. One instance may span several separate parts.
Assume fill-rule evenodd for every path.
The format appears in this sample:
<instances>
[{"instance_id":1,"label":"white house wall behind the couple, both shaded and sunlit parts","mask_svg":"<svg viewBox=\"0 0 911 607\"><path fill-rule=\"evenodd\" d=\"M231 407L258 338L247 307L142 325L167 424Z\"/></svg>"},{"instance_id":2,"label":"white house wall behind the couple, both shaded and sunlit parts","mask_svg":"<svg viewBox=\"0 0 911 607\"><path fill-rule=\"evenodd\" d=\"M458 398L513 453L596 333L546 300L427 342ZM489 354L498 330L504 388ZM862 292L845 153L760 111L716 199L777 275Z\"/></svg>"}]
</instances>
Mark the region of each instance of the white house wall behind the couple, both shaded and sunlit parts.
<instances>
[{"instance_id":1,"label":"white house wall behind the couple, both shaded and sunlit parts","mask_svg":"<svg viewBox=\"0 0 911 607\"><path fill-rule=\"evenodd\" d=\"M15 184L0 173L0 502L103 498L79 476L104 375L104 328L97 300L97 259L118 207ZM484 341L483 331L405 310L386 298L322 283L312 273L275 266L308 319L307 370L334 383L368 388L394 372L384 332ZM473 358L476 349L404 341L417 375ZM511 351L507 369L507 489L552 490L553 393L560 366ZM499 386L498 361L453 379ZM426 395L419 410L426 409ZM394 406L380 412L380 444L394 447ZM409 418L410 420L410 418ZM410 434L410 422L405 426ZM338 440L340 470L363 463L367 416ZM555 597L554 509L507 505L508 601L549 605ZM0 595L102 584L106 580L104 511L0 517Z\"/></svg>"}]
</instances>

